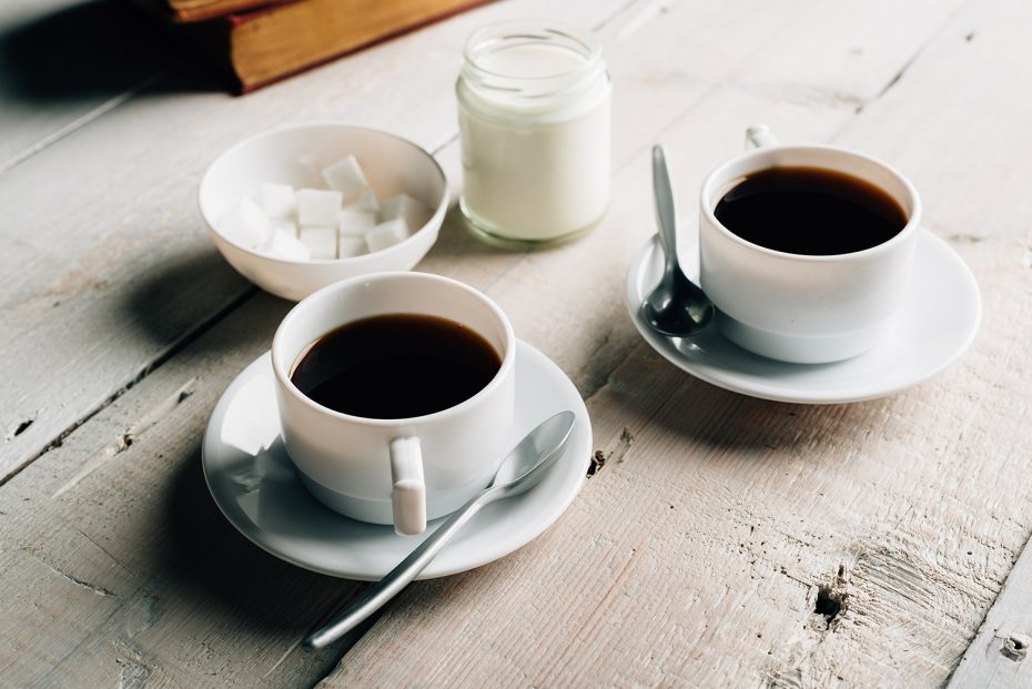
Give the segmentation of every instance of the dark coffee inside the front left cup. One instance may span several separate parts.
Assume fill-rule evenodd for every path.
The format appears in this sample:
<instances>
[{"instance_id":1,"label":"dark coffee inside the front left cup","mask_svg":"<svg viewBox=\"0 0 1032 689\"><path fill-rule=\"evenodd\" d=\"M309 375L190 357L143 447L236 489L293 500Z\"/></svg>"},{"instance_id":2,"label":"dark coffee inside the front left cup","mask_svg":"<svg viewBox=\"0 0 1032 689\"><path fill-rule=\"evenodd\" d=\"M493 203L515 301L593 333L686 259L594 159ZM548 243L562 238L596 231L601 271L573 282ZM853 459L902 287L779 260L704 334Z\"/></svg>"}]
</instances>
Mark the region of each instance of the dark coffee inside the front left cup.
<instances>
[{"instance_id":1,"label":"dark coffee inside the front left cup","mask_svg":"<svg viewBox=\"0 0 1032 689\"><path fill-rule=\"evenodd\" d=\"M459 323L392 314L323 335L299 357L291 381L336 412L408 418L473 397L500 367L494 347Z\"/></svg>"}]
</instances>

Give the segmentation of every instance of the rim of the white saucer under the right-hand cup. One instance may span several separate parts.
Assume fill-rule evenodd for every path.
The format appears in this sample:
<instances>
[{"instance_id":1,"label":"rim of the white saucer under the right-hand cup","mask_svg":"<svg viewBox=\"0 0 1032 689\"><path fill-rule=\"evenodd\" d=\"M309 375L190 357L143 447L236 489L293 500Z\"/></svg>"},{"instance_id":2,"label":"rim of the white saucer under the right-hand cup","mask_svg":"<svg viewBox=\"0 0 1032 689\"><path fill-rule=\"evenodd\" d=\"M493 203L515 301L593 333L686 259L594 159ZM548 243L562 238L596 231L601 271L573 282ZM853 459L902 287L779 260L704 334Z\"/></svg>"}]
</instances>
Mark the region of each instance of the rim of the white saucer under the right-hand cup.
<instances>
[{"instance_id":1,"label":"rim of the white saucer under the right-hand cup","mask_svg":"<svg viewBox=\"0 0 1032 689\"><path fill-rule=\"evenodd\" d=\"M751 397L759 397L761 399L797 404L841 404L884 397L923 383L960 358L974 341L981 323L981 296L971 268L942 239L935 236L925 229L919 229L918 235L917 251L924 252L925 255L917 256L917 259L931 261L932 263L938 262L940 264L938 266L939 270L949 271L952 274L953 288L965 293L969 297L971 310L967 314L968 327L951 342L952 347L947 354L934 361L925 362L927 365L920 371L899 371L894 377L873 376L872 379L869 379L864 385L846 385L831 389L813 389L805 385L792 386L772 384L761 379L759 376L748 375L749 372L745 369L728 372L719 366L715 366L716 359L705 352L700 352L695 356L689 356L679 351L669 338L654 332L644 321L639 311L641 301L647 293L645 285L654 282L647 281L646 272L649 271L649 263L654 253L660 251L657 235L651 236L641 246L628 266L625 283L625 302L635 327L638 328L643 338L652 349L678 368L718 387ZM917 271L915 276L921 277L921 275L917 275ZM905 316L905 314L901 315ZM724 342L729 349L735 348L741 358L746 361L751 358L756 361L758 365L762 363L766 366L783 366L786 369L793 366L801 368L808 367L808 365L805 364L787 364L766 359L745 352L728 341ZM863 356L866 355L861 355L861 357ZM818 366L828 371L829 376L833 376L837 369L842 371L844 366L853 365L856 361L858 359L847 359L838 364L822 364Z\"/></svg>"}]
</instances>

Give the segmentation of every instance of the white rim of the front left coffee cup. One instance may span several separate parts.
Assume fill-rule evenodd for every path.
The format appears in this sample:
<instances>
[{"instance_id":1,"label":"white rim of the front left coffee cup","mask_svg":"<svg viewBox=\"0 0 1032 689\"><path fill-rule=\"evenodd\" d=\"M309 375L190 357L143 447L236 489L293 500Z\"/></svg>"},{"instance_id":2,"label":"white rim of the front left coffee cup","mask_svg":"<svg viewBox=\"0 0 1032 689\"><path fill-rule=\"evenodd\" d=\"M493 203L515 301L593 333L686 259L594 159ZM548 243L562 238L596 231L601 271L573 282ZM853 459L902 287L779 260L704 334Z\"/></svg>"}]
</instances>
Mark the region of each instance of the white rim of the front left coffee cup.
<instances>
[{"instance_id":1,"label":"white rim of the front left coffee cup","mask_svg":"<svg viewBox=\"0 0 1032 689\"><path fill-rule=\"evenodd\" d=\"M327 406L321 405L297 388L291 381L290 374L286 372L283 358L283 338L285 337L285 331L290 327L290 324L293 320L300 317L297 314L303 310L307 308L307 303L315 301L316 298L322 298L325 294L331 292L343 292L353 288L356 284L368 284L371 282L381 282L389 280L415 280L416 282L437 282L449 285L452 288L465 292L473 295L475 298L479 300L485 304L492 313L498 318L498 322L503 326L505 333L505 352L502 353L502 365L498 366L498 371L495 373L490 382L480 388L472 397L463 399L456 405L446 407L438 412L432 414L424 414L422 416L407 416L403 418L373 418L370 416L356 416L354 414L345 414L343 412L337 412L336 409L331 409ZM403 312L385 312L385 313L403 313ZM351 323L347 321L346 323ZM280 387L291 394L295 399L302 402L308 408L325 414L333 418L338 418L342 421L352 422L355 424L362 424L366 426L397 426L403 424L415 424L415 423L426 423L441 421L448 416L455 416L466 411L469 407L473 407L480 403L480 401L488 395L490 395L495 389L500 387L504 381L508 377L509 371L513 368L516 362L516 334L513 331L513 325L509 323L508 317L505 315L505 312L502 311L502 307L498 306L494 300L489 296L472 287L463 282L453 280L451 277L445 277L443 275L435 275L433 273L421 273L417 271L394 271L394 272L384 272L375 273L373 275L356 275L355 277L350 277L347 280L342 280L333 284L326 285L321 290L317 290L297 302L283 317L283 321L280 322L280 325L276 327L276 332L272 338L272 369L273 374L276 377L276 382L280 384ZM291 362L293 363L293 361Z\"/></svg>"}]
</instances>

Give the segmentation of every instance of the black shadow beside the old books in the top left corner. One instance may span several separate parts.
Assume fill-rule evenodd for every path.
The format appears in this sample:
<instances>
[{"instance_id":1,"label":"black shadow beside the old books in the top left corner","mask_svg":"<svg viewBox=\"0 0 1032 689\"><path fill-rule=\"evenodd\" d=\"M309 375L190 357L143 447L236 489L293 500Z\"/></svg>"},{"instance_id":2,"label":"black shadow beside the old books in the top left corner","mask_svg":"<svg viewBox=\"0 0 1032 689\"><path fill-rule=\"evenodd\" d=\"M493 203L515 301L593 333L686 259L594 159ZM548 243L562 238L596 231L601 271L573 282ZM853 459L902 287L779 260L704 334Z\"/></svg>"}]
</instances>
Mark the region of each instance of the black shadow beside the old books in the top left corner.
<instances>
[{"instance_id":1,"label":"black shadow beside the old books in the top left corner","mask_svg":"<svg viewBox=\"0 0 1032 689\"><path fill-rule=\"evenodd\" d=\"M0 27L0 93L10 100L43 104L110 98L180 64L186 65L184 78L159 80L153 89L224 88L184 59L156 22L124 1L73 4Z\"/></svg>"}]
</instances>

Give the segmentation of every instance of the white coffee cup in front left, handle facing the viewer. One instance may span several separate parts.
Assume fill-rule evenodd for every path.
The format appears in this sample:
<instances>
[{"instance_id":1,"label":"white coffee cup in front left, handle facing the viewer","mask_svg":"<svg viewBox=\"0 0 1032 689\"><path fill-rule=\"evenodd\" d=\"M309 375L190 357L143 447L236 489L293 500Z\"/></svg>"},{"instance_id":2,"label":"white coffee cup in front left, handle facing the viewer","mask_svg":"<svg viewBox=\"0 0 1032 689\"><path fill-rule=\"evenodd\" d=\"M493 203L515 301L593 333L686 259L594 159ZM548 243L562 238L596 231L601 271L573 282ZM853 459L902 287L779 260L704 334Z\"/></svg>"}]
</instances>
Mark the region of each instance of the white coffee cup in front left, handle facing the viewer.
<instances>
[{"instance_id":1,"label":"white coffee cup in front left, handle facing the viewer","mask_svg":"<svg viewBox=\"0 0 1032 689\"><path fill-rule=\"evenodd\" d=\"M401 419L352 416L306 397L292 369L317 338L384 314L422 314L461 323L495 348L502 366L473 397ZM510 440L516 337L502 310L461 282L426 273L381 273L334 283L300 302L272 343L283 443L302 482L330 508L362 521L421 534L483 489ZM404 395L406 391L397 391Z\"/></svg>"}]
</instances>

